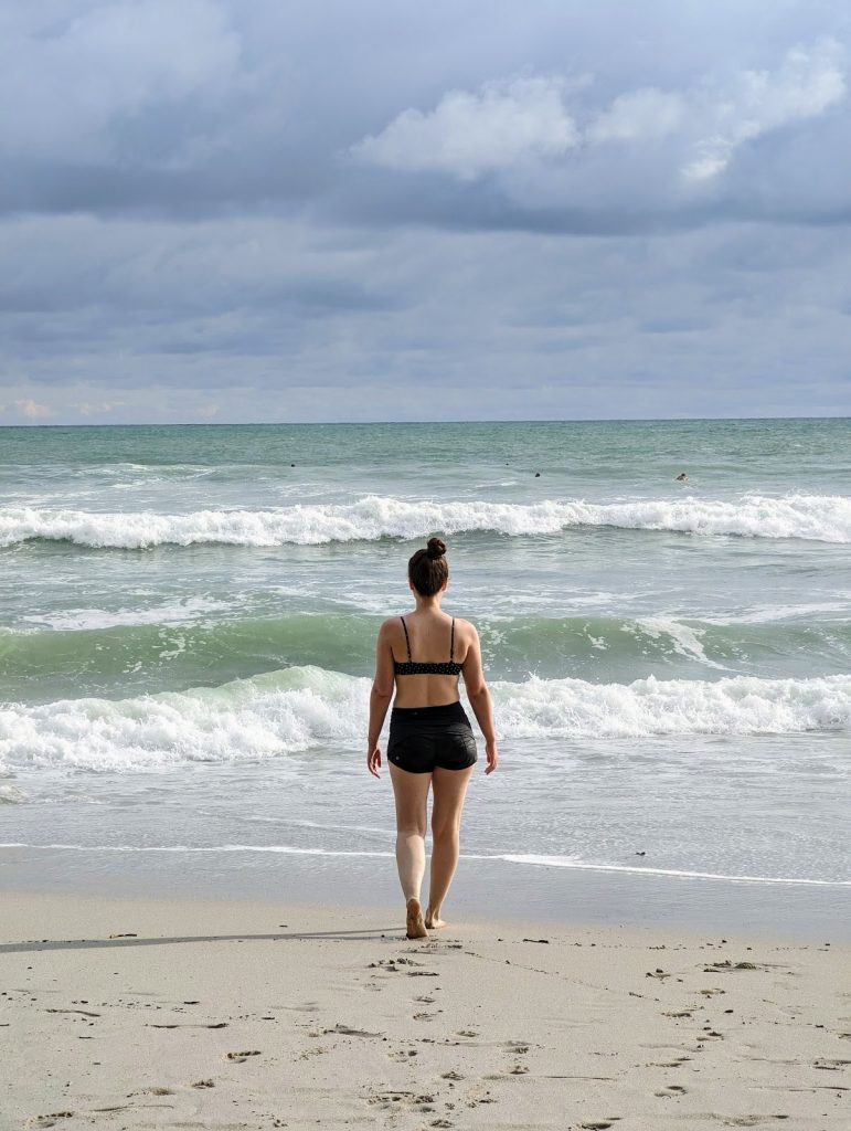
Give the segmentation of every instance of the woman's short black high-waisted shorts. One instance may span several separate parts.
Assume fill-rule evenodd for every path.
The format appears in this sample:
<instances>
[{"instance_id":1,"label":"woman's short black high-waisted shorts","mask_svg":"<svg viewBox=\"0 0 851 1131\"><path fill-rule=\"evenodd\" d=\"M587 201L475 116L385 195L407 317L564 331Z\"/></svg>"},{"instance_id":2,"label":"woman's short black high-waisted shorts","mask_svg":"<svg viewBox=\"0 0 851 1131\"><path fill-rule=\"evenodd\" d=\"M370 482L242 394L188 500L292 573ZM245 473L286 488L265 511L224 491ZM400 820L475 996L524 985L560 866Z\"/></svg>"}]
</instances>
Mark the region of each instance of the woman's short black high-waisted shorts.
<instances>
[{"instance_id":1,"label":"woman's short black high-waisted shorts","mask_svg":"<svg viewBox=\"0 0 851 1131\"><path fill-rule=\"evenodd\" d=\"M476 762L476 740L461 703L394 707L388 761L409 774L469 769Z\"/></svg>"}]
</instances>

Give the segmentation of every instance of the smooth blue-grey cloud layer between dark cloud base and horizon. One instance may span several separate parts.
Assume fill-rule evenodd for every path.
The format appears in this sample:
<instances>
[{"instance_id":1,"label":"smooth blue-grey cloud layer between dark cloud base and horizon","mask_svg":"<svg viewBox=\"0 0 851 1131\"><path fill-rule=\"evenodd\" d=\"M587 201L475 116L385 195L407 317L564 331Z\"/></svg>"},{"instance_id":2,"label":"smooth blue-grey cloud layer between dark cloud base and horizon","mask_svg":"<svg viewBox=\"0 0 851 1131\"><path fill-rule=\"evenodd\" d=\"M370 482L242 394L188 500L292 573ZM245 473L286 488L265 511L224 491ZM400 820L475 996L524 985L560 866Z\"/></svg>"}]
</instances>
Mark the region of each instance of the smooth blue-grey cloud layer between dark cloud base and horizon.
<instances>
[{"instance_id":1,"label":"smooth blue-grey cloud layer between dark cloud base and horizon","mask_svg":"<svg viewBox=\"0 0 851 1131\"><path fill-rule=\"evenodd\" d=\"M118 400L86 420L848 411L851 248L827 226L553 239L33 217L28 235L28 309L0 313L0 396L51 422ZM304 317L321 276L392 302Z\"/></svg>"}]
</instances>

